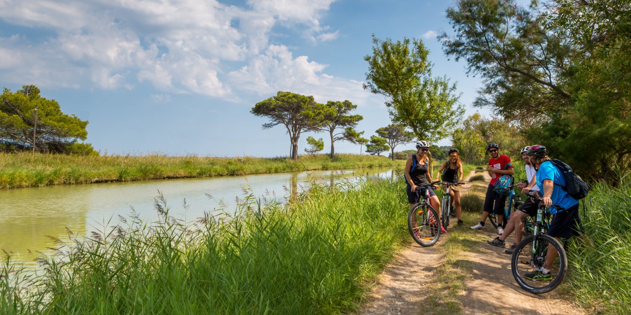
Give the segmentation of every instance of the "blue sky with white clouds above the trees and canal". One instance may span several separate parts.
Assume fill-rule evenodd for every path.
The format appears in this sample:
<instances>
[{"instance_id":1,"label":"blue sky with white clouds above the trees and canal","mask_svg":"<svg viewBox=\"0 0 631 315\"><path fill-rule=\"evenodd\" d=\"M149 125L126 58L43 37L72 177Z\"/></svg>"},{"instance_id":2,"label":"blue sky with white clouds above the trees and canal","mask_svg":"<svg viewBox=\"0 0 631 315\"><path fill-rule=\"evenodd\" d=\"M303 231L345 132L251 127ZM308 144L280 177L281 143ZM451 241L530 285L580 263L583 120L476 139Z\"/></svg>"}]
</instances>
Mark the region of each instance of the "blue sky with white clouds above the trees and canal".
<instances>
[{"instance_id":1,"label":"blue sky with white clouds above the trees and canal","mask_svg":"<svg viewBox=\"0 0 631 315\"><path fill-rule=\"evenodd\" d=\"M457 83L466 114L479 77L445 56L451 1L0 0L0 85L35 84L64 113L88 120L106 154L288 156L283 126L262 130L251 108L278 91L350 100L365 137L390 121L362 88L371 35L421 38L435 76ZM328 134L303 134L324 139ZM449 139L437 144L449 145ZM336 152L360 146L336 142ZM364 147L365 149L365 147ZM413 149L413 144L396 151ZM387 153L386 153L387 154Z\"/></svg>"}]
</instances>

